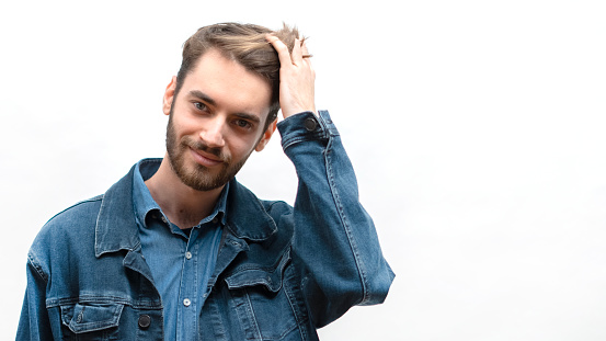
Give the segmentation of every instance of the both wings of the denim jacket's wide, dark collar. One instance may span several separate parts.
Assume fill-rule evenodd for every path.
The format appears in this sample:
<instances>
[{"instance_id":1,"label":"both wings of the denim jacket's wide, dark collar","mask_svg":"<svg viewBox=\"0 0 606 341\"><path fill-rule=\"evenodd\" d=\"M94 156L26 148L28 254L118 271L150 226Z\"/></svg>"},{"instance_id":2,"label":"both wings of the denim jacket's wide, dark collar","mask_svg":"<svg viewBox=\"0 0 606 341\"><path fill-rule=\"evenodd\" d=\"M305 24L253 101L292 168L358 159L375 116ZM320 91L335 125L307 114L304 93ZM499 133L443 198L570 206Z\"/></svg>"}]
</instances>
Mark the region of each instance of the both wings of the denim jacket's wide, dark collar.
<instances>
[{"instance_id":1,"label":"both wings of the denim jacket's wide, dark collar","mask_svg":"<svg viewBox=\"0 0 606 341\"><path fill-rule=\"evenodd\" d=\"M133 206L133 177L135 166L105 192L95 227L94 253L137 250L139 230ZM277 231L273 218L259 198L236 179L230 182L227 196L227 230L237 238L262 241Z\"/></svg>"}]
</instances>

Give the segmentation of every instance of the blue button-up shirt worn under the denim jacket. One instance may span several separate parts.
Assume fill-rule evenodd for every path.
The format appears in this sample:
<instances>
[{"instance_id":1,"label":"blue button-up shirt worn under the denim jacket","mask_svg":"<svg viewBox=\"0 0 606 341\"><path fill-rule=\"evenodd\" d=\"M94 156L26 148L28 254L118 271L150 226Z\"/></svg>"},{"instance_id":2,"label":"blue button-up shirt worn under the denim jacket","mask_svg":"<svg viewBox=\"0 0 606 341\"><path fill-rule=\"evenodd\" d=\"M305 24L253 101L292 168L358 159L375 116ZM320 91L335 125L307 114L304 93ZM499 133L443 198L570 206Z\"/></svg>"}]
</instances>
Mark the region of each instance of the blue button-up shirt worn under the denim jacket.
<instances>
[{"instance_id":1,"label":"blue button-up shirt worn under the denim jacket","mask_svg":"<svg viewBox=\"0 0 606 341\"><path fill-rule=\"evenodd\" d=\"M144 159L135 167L133 204L141 251L164 306L164 339L196 340L198 316L209 292L207 283L215 270L225 225L229 184L214 212L186 234L168 219L145 184L160 162L161 159Z\"/></svg>"}]
</instances>

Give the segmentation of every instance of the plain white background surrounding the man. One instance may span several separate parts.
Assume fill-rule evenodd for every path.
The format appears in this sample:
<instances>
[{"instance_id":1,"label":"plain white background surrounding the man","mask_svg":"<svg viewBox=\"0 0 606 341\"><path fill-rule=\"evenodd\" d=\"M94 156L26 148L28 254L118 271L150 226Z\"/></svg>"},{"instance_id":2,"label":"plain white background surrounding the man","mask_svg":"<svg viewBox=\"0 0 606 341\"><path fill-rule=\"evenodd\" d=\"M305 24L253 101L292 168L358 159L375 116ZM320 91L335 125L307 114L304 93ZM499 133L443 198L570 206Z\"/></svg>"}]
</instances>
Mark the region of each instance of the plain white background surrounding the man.
<instances>
[{"instance_id":1,"label":"plain white background surrounding the man","mask_svg":"<svg viewBox=\"0 0 606 341\"><path fill-rule=\"evenodd\" d=\"M9 1L7 1L9 2ZM2 340L41 226L161 157L182 43L224 21L309 36L397 273L323 340L606 339L603 1L10 1L0 7ZM293 202L278 139L239 180Z\"/></svg>"}]
</instances>

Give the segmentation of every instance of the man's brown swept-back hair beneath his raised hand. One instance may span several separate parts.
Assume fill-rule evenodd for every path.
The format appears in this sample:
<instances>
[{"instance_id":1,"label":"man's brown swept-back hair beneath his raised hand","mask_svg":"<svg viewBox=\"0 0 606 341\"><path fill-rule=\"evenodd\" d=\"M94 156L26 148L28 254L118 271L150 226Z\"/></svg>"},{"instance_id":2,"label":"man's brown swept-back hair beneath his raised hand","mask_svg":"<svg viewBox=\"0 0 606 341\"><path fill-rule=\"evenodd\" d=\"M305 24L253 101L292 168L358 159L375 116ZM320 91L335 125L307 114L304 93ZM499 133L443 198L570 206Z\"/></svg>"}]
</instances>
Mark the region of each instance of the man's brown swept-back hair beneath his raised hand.
<instances>
[{"instance_id":1,"label":"man's brown swept-back hair beneath his raised hand","mask_svg":"<svg viewBox=\"0 0 606 341\"><path fill-rule=\"evenodd\" d=\"M293 52L295 38L299 37L296 27L284 24L279 31L240 23L220 23L199 29L183 45L183 60L176 73L175 95L183 86L185 77L211 48L224 57L242 65L247 70L266 79L272 88L270 114L265 128L274 122L279 110L279 59L277 52L265 36L274 34Z\"/></svg>"}]
</instances>

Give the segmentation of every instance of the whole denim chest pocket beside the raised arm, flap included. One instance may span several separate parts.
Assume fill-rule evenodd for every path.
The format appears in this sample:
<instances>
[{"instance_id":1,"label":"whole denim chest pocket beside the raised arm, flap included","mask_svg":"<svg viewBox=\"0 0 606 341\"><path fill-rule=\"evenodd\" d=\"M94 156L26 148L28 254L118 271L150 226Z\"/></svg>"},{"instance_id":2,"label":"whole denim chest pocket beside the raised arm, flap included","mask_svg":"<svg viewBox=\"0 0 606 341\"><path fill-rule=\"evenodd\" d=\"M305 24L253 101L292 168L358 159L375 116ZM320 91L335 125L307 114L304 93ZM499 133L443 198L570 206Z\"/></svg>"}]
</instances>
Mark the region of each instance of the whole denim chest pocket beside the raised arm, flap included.
<instances>
[{"instance_id":1,"label":"whole denim chest pocket beside the raised arm, flap included","mask_svg":"<svg viewBox=\"0 0 606 341\"><path fill-rule=\"evenodd\" d=\"M287 283L286 253L275 269L243 268L225 279L247 340L300 340L294 287Z\"/></svg>"}]
</instances>

